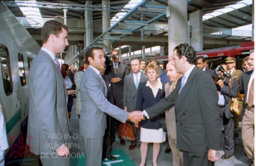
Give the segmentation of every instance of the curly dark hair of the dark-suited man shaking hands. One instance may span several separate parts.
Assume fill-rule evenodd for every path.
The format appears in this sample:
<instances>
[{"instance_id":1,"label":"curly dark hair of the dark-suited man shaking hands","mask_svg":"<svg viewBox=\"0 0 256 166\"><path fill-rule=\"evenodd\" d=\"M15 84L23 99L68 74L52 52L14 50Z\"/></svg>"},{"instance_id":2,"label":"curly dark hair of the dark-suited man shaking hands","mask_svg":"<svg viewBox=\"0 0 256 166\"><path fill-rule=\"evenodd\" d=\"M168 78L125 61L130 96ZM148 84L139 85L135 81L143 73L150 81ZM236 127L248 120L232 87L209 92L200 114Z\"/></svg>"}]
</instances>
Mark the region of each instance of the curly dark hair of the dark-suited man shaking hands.
<instances>
[{"instance_id":1,"label":"curly dark hair of the dark-suited man shaking hands","mask_svg":"<svg viewBox=\"0 0 256 166\"><path fill-rule=\"evenodd\" d=\"M179 59L181 56L185 56L187 58L188 63L190 64L196 64L196 50L188 45L187 43L182 43L177 45L174 49L177 50L177 55Z\"/></svg>"}]
</instances>

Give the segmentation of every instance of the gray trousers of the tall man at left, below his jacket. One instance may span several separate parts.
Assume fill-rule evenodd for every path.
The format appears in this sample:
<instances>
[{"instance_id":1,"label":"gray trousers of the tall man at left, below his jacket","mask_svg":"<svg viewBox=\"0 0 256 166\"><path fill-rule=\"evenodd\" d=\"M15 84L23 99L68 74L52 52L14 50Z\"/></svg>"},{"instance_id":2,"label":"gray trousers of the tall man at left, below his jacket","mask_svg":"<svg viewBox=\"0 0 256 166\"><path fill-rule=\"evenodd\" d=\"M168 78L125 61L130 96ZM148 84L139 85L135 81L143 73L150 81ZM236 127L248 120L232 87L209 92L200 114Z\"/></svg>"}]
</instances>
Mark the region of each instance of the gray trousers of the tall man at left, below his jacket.
<instances>
[{"instance_id":1,"label":"gray trousers of the tall man at left, below his jacket","mask_svg":"<svg viewBox=\"0 0 256 166\"><path fill-rule=\"evenodd\" d=\"M53 155L39 155L39 158L43 164L43 166L69 166L69 157L59 157L57 154Z\"/></svg>"}]
</instances>

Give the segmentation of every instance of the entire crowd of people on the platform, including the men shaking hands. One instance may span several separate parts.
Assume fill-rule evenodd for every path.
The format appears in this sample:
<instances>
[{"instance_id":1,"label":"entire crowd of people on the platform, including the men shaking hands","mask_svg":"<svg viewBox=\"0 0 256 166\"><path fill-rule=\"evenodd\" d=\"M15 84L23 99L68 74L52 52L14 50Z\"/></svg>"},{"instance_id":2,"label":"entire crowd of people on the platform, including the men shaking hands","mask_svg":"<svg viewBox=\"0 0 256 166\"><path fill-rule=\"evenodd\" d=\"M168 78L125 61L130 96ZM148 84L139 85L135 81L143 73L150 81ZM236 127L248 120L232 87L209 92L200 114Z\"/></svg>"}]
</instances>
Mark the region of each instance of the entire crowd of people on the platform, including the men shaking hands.
<instances>
[{"instance_id":1,"label":"entire crowd of people on the platform, including the men shaking hands","mask_svg":"<svg viewBox=\"0 0 256 166\"><path fill-rule=\"evenodd\" d=\"M140 146L140 166L146 165L148 143L153 143L152 165L157 166L165 141L173 166L208 166L218 160L217 150L225 151L221 159L234 154L239 118L244 150L254 164L254 52L243 59L243 71L235 69L232 57L214 71L186 43L174 48L166 66L137 58L128 66L120 62L118 50L112 50L115 58L106 65L102 49L92 47L85 52L84 70L75 72L67 64L60 66L55 56L68 46L67 32L58 21L45 22L43 45L30 67L27 134L34 137L30 151L43 165L69 165L74 96L86 166L116 159L111 144L126 121L133 122L136 139L129 150ZM52 137L56 134L61 137Z\"/></svg>"}]
</instances>

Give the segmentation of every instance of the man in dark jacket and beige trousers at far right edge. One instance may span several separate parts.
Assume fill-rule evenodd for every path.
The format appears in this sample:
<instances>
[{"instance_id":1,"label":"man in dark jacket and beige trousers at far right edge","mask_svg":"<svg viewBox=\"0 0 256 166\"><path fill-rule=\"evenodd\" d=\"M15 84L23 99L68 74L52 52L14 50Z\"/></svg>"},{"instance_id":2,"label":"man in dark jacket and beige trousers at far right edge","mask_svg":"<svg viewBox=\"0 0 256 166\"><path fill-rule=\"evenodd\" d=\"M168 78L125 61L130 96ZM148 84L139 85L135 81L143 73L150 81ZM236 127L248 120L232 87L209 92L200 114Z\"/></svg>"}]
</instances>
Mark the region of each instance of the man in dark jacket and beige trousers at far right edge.
<instances>
[{"instance_id":1,"label":"man in dark jacket and beige trousers at far right edge","mask_svg":"<svg viewBox=\"0 0 256 166\"><path fill-rule=\"evenodd\" d=\"M248 64L251 70L242 74L239 92L244 94L241 114L244 151L252 160L250 165L254 165L254 51L249 55Z\"/></svg>"}]
</instances>

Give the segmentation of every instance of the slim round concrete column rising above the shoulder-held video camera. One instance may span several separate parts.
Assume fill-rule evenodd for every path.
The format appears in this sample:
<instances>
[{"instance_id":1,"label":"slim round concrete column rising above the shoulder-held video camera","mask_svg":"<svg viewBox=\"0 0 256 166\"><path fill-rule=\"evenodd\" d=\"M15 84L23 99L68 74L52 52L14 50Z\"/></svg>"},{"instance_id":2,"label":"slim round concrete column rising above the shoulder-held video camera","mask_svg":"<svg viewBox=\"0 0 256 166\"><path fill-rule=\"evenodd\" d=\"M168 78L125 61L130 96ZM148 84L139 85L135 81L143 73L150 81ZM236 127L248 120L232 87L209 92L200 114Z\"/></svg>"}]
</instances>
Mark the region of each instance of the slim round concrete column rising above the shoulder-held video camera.
<instances>
[{"instance_id":1,"label":"slim round concrete column rising above the shoulder-held video camera","mask_svg":"<svg viewBox=\"0 0 256 166\"><path fill-rule=\"evenodd\" d=\"M102 26L103 32L105 32L110 27L110 0L102 0ZM106 36L110 36L110 34L106 34ZM103 51L108 51L111 47L110 40L103 40ZM109 50L110 51L110 50Z\"/></svg>"}]
</instances>

